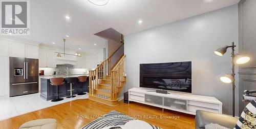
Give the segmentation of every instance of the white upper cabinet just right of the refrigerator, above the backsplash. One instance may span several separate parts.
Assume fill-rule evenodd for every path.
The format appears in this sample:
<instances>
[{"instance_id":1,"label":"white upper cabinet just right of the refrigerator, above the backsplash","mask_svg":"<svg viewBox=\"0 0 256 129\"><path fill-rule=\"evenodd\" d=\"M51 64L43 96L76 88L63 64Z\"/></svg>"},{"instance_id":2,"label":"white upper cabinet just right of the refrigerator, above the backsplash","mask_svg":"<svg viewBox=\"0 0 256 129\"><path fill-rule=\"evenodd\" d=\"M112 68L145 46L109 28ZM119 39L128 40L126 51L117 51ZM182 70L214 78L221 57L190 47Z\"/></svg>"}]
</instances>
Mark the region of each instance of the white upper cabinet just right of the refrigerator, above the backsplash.
<instances>
[{"instance_id":1,"label":"white upper cabinet just right of the refrigerator, above the backsplash","mask_svg":"<svg viewBox=\"0 0 256 129\"><path fill-rule=\"evenodd\" d=\"M55 50L39 48L39 67L56 67Z\"/></svg>"}]
</instances>

